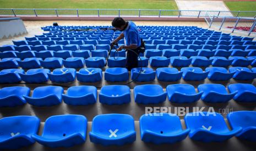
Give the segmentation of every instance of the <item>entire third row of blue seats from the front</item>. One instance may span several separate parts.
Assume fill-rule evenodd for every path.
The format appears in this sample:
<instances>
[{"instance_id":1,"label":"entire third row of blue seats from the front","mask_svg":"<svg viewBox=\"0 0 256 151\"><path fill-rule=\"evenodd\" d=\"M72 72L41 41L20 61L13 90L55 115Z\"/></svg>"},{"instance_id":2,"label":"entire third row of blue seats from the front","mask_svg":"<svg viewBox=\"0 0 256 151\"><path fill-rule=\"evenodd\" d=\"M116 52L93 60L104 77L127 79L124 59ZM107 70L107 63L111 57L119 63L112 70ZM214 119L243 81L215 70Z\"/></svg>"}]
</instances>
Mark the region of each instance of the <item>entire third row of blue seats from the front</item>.
<instances>
[{"instance_id":1,"label":"entire third row of blue seats from the front","mask_svg":"<svg viewBox=\"0 0 256 151\"><path fill-rule=\"evenodd\" d=\"M73 82L77 77L79 82L100 82L102 70L100 68L81 68L77 72L74 68L57 68L51 73L50 69L36 68L25 71L23 69L3 69L0 71L0 83L45 83L49 79L55 83ZM176 68L133 68L130 72L132 80L137 82L149 82L155 80L175 82L183 78L186 81L199 81L206 78L214 81L253 80L256 78L256 68L230 67L227 71L223 67L208 67L203 71L199 67L183 67L181 71ZM126 82L129 80L129 72L126 68L107 68L105 80L108 82Z\"/></svg>"}]
</instances>

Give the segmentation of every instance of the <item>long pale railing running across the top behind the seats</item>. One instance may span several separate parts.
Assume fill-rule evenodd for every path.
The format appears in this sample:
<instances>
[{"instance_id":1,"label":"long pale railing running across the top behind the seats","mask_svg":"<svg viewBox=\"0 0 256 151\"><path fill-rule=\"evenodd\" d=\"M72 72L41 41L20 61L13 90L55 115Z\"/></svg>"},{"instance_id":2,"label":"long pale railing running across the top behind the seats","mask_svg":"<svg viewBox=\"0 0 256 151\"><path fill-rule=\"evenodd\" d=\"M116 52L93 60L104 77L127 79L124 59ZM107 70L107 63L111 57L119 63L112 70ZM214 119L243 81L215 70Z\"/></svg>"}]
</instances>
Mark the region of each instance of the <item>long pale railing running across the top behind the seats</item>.
<instances>
[{"instance_id":1,"label":"long pale railing running across the top behind the seats","mask_svg":"<svg viewBox=\"0 0 256 151\"><path fill-rule=\"evenodd\" d=\"M0 9L0 16L134 16L134 17L194 17L205 15L221 17L255 18L256 11L206 11L164 9Z\"/></svg>"}]
</instances>

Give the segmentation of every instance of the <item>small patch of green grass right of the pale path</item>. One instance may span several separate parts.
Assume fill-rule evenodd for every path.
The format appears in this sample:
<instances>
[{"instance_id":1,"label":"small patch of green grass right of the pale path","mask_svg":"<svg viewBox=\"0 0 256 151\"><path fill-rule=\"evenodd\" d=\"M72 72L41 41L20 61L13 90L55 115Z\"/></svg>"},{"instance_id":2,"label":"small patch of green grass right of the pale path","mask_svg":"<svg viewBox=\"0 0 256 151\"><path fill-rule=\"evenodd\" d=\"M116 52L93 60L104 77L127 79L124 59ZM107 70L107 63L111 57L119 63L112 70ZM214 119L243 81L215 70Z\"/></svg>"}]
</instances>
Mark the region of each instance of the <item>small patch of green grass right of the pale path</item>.
<instances>
[{"instance_id":1,"label":"small patch of green grass right of the pale path","mask_svg":"<svg viewBox=\"0 0 256 151\"><path fill-rule=\"evenodd\" d=\"M256 11L256 2L225 2L231 11ZM233 13L236 15L236 13ZM255 13L240 13L239 16L255 16Z\"/></svg>"}]
</instances>

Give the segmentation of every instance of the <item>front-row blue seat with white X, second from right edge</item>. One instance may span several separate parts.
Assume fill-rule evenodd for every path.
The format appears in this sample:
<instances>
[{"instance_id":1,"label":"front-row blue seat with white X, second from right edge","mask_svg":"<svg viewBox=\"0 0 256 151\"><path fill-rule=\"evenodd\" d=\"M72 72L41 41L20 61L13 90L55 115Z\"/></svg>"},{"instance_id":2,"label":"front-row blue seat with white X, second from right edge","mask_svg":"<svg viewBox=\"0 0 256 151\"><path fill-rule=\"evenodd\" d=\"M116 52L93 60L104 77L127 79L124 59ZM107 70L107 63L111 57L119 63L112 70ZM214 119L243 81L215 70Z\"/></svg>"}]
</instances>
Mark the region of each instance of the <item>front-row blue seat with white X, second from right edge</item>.
<instances>
[{"instance_id":1,"label":"front-row blue seat with white X, second from right edge","mask_svg":"<svg viewBox=\"0 0 256 151\"><path fill-rule=\"evenodd\" d=\"M222 142L239 133L242 128L229 130L221 114L215 112L193 112L184 117L190 129L189 137L202 142Z\"/></svg>"}]
</instances>

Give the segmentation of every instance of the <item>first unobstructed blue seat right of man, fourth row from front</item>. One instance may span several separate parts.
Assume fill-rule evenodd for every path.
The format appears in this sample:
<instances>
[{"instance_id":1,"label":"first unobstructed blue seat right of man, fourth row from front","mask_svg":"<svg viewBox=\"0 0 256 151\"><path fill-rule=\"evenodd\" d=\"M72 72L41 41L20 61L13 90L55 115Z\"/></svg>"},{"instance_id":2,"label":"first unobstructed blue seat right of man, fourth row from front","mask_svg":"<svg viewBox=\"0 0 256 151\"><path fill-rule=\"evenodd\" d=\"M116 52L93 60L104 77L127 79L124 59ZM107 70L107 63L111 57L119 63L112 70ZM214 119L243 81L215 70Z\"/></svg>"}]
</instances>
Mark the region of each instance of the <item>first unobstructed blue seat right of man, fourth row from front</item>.
<instances>
[{"instance_id":1,"label":"first unobstructed blue seat right of man, fourth row from front","mask_svg":"<svg viewBox=\"0 0 256 151\"><path fill-rule=\"evenodd\" d=\"M152 67L168 67L170 59L164 56L153 56L149 58L149 62Z\"/></svg>"}]
</instances>

